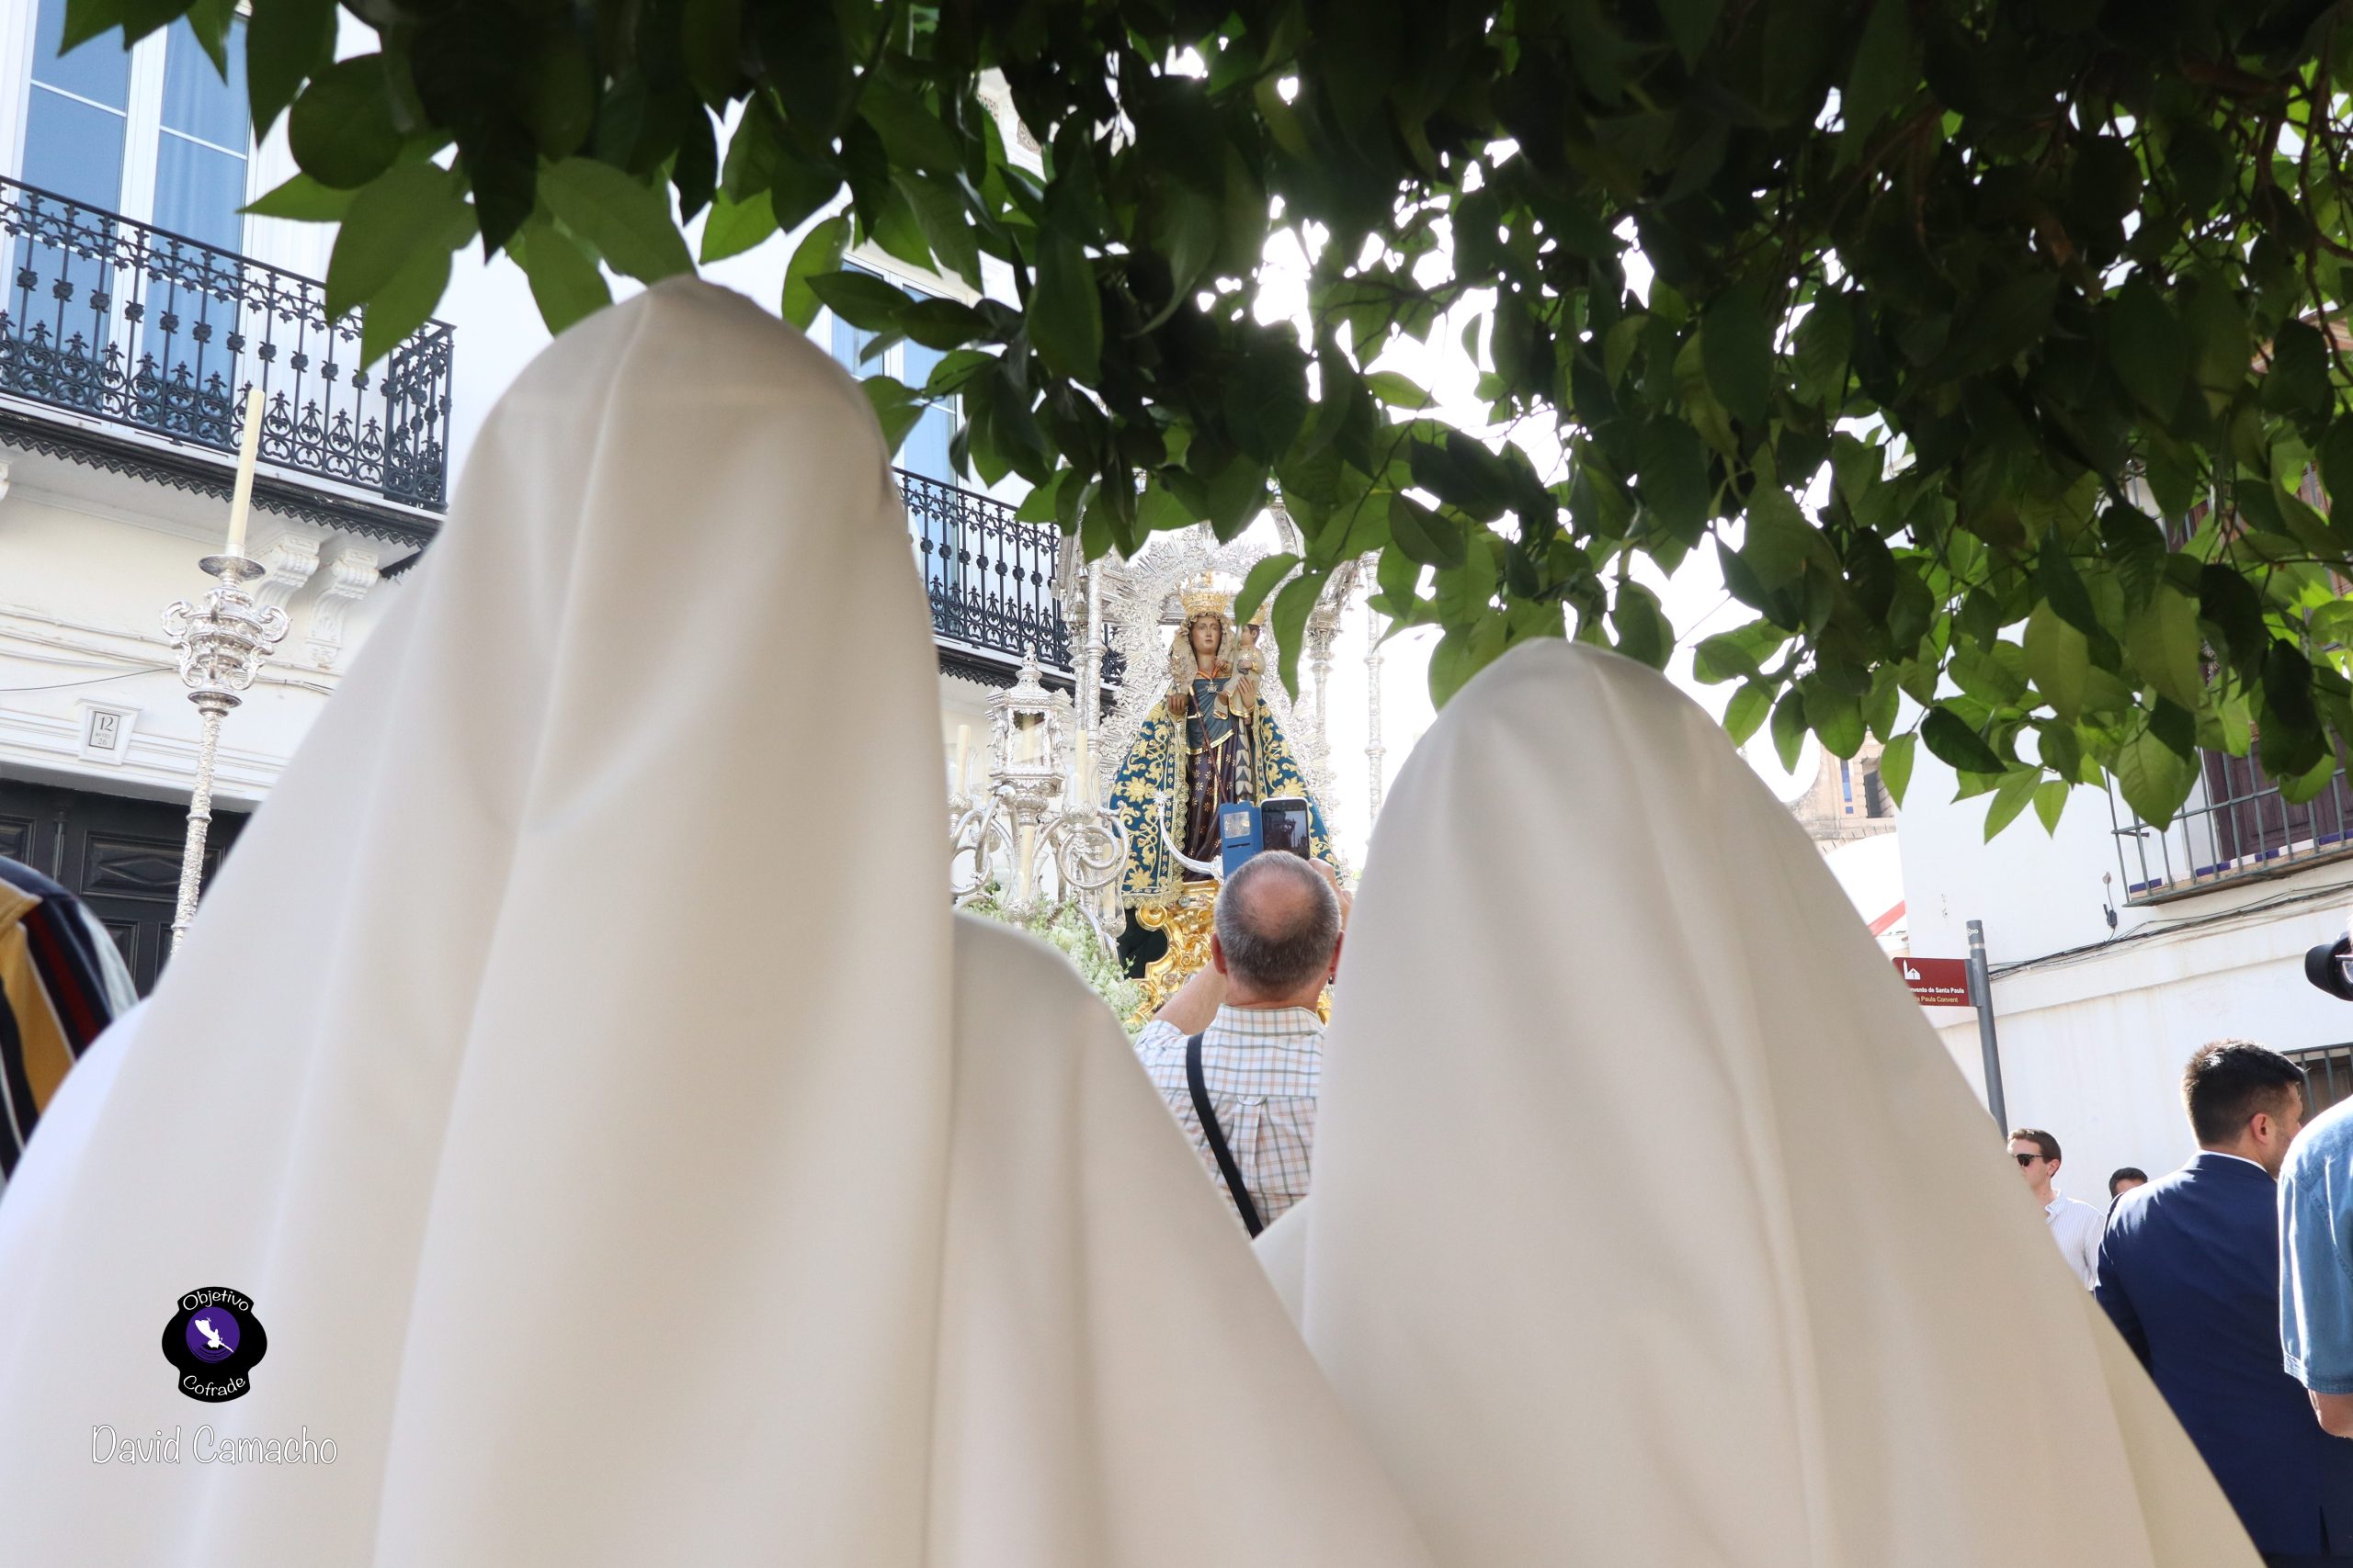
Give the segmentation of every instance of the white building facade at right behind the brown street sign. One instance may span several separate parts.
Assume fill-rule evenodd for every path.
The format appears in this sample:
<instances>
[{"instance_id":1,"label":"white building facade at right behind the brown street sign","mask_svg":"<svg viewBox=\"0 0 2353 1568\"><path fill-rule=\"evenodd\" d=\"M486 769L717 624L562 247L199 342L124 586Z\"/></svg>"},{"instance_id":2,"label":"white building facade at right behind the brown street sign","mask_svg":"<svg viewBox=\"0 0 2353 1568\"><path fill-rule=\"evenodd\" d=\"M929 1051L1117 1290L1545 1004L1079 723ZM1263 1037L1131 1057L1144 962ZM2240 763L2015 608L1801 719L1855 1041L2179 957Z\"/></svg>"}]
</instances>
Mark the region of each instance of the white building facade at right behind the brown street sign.
<instances>
[{"instance_id":1,"label":"white building facade at right behind the brown street sign","mask_svg":"<svg viewBox=\"0 0 2353 1568\"><path fill-rule=\"evenodd\" d=\"M2106 1201L2118 1166L2158 1175L2195 1152L2181 1067L2209 1039L2297 1058L2315 1107L2353 1091L2353 1004L2304 980L2304 952L2353 912L2344 776L2289 806L2217 755L2165 832L2078 788L2057 835L2028 813L1991 844L1991 797L1953 802L1953 785L1922 752L1897 830L1911 952L1965 957L1984 922L2007 1119L2059 1138L2071 1197ZM1929 1023L1984 1095L1977 1016Z\"/></svg>"}]
</instances>

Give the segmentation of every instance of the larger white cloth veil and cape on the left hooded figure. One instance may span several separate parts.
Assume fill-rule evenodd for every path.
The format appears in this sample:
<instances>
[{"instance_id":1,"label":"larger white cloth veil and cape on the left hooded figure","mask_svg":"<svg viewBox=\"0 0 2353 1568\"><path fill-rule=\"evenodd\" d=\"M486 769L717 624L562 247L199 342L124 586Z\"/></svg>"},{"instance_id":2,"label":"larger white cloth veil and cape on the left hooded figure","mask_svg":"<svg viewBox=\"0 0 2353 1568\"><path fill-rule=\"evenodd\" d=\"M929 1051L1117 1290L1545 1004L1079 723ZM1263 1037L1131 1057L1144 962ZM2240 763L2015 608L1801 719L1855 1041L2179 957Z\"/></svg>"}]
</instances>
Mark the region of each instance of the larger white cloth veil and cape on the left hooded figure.
<instances>
[{"instance_id":1,"label":"larger white cloth veil and cape on the left hooded figure","mask_svg":"<svg viewBox=\"0 0 2353 1568\"><path fill-rule=\"evenodd\" d=\"M398 592L0 1204L0 1559L1419 1561L1108 1016L951 924L840 369L692 282L581 324ZM200 1422L339 1458L92 1462Z\"/></svg>"}]
</instances>

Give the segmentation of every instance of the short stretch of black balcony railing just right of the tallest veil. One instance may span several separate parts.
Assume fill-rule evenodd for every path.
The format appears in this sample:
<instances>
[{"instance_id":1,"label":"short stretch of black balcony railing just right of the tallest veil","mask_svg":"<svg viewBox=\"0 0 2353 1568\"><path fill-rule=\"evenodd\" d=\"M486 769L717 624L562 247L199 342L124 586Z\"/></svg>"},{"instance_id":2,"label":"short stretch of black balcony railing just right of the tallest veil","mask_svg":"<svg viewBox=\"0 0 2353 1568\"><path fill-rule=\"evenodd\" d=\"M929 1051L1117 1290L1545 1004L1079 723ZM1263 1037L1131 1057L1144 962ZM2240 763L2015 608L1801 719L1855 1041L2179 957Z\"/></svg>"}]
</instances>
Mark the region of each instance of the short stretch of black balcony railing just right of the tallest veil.
<instances>
[{"instance_id":1,"label":"short stretch of black balcony railing just right of the tallest veil","mask_svg":"<svg viewBox=\"0 0 2353 1568\"><path fill-rule=\"evenodd\" d=\"M1061 534L1021 522L995 496L899 470L915 559L932 595L932 632L948 642L1071 670L1071 625L1054 602Z\"/></svg>"}]
</instances>

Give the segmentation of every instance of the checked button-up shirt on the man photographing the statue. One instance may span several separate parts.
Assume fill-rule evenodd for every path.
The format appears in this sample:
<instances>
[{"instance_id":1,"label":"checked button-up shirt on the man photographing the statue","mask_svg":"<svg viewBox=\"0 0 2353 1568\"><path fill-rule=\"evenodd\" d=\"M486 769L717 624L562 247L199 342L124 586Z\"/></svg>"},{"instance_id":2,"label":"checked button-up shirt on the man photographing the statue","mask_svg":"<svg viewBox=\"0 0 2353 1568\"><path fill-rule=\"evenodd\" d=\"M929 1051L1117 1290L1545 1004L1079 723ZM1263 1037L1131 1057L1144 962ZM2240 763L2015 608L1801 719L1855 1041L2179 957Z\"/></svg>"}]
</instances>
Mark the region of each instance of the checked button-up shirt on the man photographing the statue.
<instances>
[{"instance_id":1,"label":"checked button-up shirt on the man photographing the statue","mask_svg":"<svg viewBox=\"0 0 2353 1568\"><path fill-rule=\"evenodd\" d=\"M1176 1112L1193 1147L1200 1150L1209 1182L1233 1208L1217 1154L1193 1114L1193 1091L1184 1079L1186 1034L1153 1020L1136 1037L1136 1056L1153 1074L1160 1095ZM1209 1110L1226 1131L1226 1147L1242 1171L1242 1187L1259 1208L1259 1220L1273 1225L1285 1208L1308 1194L1308 1150L1315 1143L1315 1084L1322 1077L1322 1020L1311 1009L1221 1006L1200 1039L1200 1077L1209 1091Z\"/></svg>"}]
</instances>

